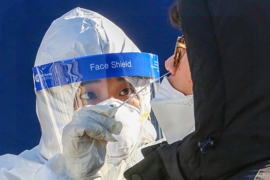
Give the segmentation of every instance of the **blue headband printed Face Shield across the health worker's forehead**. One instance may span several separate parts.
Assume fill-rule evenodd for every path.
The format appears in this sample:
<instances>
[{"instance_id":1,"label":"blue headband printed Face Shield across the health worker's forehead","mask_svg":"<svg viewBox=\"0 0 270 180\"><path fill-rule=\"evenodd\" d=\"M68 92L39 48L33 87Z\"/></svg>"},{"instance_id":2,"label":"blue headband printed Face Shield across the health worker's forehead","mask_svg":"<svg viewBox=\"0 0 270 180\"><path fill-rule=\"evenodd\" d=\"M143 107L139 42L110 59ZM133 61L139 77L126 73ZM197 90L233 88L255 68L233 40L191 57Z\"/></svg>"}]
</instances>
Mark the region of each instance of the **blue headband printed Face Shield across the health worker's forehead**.
<instances>
[{"instance_id":1,"label":"blue headband printed Face Shield across the health worker's forehead","mask_svg":"<svg viewBox=\"0 0 270 180\"><path fill-rule=\"evenodd\" d=\"M150 53L111 53L57 61L33 68L35 90L119 76L159 78L158 56Z\"/></svg>"}]
</instances>

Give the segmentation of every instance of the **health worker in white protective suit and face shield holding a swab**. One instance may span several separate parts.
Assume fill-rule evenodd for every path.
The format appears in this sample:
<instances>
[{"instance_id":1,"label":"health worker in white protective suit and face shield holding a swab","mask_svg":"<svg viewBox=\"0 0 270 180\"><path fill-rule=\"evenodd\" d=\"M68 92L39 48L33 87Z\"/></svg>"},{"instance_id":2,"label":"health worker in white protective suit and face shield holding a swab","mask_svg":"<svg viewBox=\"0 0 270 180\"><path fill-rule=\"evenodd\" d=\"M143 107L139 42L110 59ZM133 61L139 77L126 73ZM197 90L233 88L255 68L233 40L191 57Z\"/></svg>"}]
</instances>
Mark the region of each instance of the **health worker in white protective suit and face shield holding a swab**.
<instances>
[{"instance_id":1,"label":"health worker in white protective suit and face shield holding a swab","mask_svg":"<svg viewBox=\"0 0 270 180\"><path fill-rule=\"evenodd\" d=\"M159 82L142 89L159 78L158 57L100 14L75 8L56 19L33 72L42 137L0 157L1 180L120 180L137 148L156 140L149 101Z\"/></svg>"}]
</instances>

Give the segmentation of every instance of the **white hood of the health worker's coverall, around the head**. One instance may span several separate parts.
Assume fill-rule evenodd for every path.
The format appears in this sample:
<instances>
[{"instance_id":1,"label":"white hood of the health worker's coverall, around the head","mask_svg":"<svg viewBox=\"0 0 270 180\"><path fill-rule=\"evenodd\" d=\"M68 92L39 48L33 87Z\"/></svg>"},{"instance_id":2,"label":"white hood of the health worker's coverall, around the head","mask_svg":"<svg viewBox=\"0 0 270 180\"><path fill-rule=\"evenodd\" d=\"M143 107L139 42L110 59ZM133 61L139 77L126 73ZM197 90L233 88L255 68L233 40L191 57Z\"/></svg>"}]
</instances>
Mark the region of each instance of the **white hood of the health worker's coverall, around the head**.
<instances>
[{"instance_id":1,"label":"white hood of the health worker's coverall, around the head","mask_svg":"<svg viewBox=\"0 0 270 180\"><path fill-rule=\"evenodd\" d=\"M140 50L107 18L87 9L75 8L51 24L41 42L34 66L120 52ZM72 119L74 96L79 85L80 82L76 82L63 85L65 88L56 86L36 92L36 112L42 129L39 153L46 159L62 152L62 130Z\"/></svg>"}]
</instances>

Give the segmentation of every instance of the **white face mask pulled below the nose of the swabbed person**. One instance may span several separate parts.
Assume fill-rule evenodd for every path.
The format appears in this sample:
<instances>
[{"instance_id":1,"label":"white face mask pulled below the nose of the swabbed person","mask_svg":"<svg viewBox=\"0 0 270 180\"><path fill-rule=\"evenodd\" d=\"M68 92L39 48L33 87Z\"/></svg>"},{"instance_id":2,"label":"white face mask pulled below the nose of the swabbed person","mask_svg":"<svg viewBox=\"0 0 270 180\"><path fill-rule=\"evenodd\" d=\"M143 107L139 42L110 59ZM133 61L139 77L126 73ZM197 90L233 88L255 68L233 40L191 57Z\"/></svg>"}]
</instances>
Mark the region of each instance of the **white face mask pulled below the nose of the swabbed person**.
<instances>
[{"instance_id":1,"label":"white face mask pulled below the nose of the swabbed person","mask_svg":"<svg viewBox=\"0 0 270 180\"><path fill-rule=\"evenodd\" d=\"M164 77L150 102L169 144L182 140L195 130L193 95L175 90Z\"/></svg>"}]
</instances>

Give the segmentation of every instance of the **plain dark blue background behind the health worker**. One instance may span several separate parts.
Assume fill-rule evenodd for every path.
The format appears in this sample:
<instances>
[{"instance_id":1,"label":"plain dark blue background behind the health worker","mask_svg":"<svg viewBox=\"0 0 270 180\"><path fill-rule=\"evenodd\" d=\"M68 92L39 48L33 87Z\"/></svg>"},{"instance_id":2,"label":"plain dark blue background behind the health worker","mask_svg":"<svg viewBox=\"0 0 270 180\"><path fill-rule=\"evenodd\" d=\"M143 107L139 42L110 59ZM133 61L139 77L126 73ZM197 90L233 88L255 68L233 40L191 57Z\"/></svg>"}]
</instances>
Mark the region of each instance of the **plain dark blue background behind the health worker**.
<instances>
[{"instance_id":1,"label":"plain dark blue background behind the health worker","mask_svg":"<svg viewBox=\"0 0 270 180\"><path fill-rule=\"evenodd\" d=\"M181 32L171 27L173 0L1 1L0 11L0 155L38 145L34 60L41 40L56 19L73 8L96 11L119 26L142 52L157 54L160 75Z\"/></svg>"}]
</instances>

